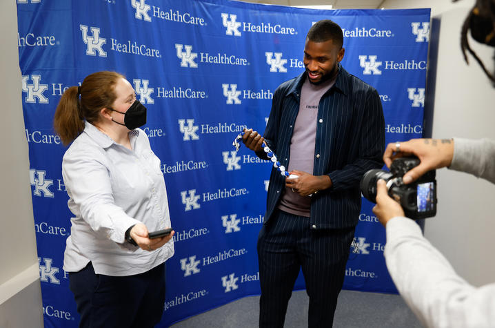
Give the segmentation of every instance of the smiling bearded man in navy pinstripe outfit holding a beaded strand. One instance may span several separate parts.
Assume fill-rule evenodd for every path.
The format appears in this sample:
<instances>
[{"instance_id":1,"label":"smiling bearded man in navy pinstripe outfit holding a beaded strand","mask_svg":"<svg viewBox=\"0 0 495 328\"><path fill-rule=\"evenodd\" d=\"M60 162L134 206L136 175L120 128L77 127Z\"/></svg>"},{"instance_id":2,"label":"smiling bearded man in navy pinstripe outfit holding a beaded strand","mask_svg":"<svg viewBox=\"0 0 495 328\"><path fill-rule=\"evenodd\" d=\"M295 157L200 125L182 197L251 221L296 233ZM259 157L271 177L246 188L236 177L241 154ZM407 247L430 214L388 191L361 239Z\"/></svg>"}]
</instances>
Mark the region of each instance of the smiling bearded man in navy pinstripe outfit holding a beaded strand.
<instances>
[{"instance_id":1,"label":"smiling bearded man in navy pinstripe outfit holding a beaded strand","mask_svg":"<svg viewBox=\"0 0 495 328\"><path fill-rule=\"evenodd\" d=\"M302 267L309 326L331 327L361 209L359 181L381 168L385 122L374 88L343 69L342 29L319 21L307 33L305 72L275 90L264 137L244 144L267 159L265 142L294 179L270 176L259 233L260 327L283 327Z\"/></svg>"}]
</instances>

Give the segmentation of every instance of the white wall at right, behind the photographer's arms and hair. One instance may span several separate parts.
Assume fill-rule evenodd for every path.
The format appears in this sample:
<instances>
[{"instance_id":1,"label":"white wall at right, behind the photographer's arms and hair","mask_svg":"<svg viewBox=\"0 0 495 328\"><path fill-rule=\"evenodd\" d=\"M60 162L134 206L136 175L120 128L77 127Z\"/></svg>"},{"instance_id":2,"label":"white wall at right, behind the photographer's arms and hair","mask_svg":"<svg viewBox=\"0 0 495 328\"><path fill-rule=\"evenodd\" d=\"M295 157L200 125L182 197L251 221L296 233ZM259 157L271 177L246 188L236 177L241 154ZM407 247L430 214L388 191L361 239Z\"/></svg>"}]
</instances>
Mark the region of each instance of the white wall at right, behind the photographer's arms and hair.
<instances>
[{"instance_id":1,"label":"white wall at right, behind the photographer's arms and hair","mask_svg":"<svg viewBox=\"0 0 495 328\"><path fill-rule=\"evenodd\" d=\"M495 139L495 88L473 57L468 55L468 66L461 54L461 26L474 0L387 0L383 7L428 8L432 4L432 16L440 21L432 137ZM470 44L493 71L495 48L472 39ZM437 181L438 211L435 218L426 220L425 236L468 282L476 286L494 282L495 186L445 168L437 171Z\"/></svg>"}]
</instances>

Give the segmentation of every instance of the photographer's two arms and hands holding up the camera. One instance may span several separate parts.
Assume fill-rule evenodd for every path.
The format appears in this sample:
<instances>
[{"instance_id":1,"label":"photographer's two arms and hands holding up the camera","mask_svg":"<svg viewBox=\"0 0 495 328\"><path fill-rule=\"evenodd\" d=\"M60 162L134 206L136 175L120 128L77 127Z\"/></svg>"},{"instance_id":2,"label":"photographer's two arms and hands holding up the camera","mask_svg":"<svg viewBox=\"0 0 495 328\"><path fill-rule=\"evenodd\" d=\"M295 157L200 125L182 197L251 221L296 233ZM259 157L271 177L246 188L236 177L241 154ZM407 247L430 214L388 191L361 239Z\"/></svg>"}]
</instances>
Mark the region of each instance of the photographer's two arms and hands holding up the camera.
<instances>
[{"instance_id":1,"label":"photographer's two arms and hands holding up the camera","mask_svg":"<svg viewBox=\"0 0 495 328\"><path fill-rule=\"evenodd\" d=\"M495 183L495 141L488 139L413 139L387 146L390 166L395 157L416 155L421 164L403 177L410 183L425 172L448 166ZM378 181L373 212L387 231L385 261L390 276L426 327L495 327L495 283L474 287L458 276L447 259L405 218L398 202Z\"/></svg>"}]
</instances>

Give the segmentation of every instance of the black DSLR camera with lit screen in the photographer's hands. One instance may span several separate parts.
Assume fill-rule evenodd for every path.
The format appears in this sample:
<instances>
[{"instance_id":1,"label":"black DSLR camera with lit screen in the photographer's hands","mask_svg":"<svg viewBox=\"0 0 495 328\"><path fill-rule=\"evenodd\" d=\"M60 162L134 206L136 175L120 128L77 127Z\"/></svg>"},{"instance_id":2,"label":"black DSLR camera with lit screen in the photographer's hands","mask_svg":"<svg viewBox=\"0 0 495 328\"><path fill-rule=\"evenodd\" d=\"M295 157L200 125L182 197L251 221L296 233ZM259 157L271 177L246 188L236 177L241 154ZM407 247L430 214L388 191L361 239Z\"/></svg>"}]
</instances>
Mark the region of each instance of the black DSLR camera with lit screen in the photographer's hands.
<instances>
[{"instance_id":1,"label":"black DSLR camera with lit screen in the photographer's hands","mask_svg":"<svg viewBox=\"0 0 495 328\"><path fill-rule=\"evenodd\" d=\"M361 193L376 203L376 182L385 180L388 195L401 204L405 216L413 220L430 218L436 215L435 170L428 171L413 183L404 184L402 177L407 171L418 166L418 157L400 157L390 165L390 172L370 170L361 179Z\"/></svg>"}]
</instances>

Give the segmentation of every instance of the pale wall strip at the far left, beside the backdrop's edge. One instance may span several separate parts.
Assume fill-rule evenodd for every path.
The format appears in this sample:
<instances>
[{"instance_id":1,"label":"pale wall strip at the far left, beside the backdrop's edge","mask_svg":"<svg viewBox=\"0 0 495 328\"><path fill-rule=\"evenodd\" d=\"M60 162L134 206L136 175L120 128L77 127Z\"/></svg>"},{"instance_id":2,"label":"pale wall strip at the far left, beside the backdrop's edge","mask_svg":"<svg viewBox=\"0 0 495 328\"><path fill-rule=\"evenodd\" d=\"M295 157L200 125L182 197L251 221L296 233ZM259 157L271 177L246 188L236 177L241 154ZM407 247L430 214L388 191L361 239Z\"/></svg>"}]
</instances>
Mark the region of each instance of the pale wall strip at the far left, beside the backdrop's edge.
<instances>
[{"instance_id":1,"label":"pale wall strip at the far left, beside the backdrop's edge","mask_svg":"<svg viewBox=\"0 0 495 328\"><path fill-rule=\"evenodd\" d=\"M0 327L42 327L15 1L0 2L0 30Z\"/></svg>"}]
</instances>

